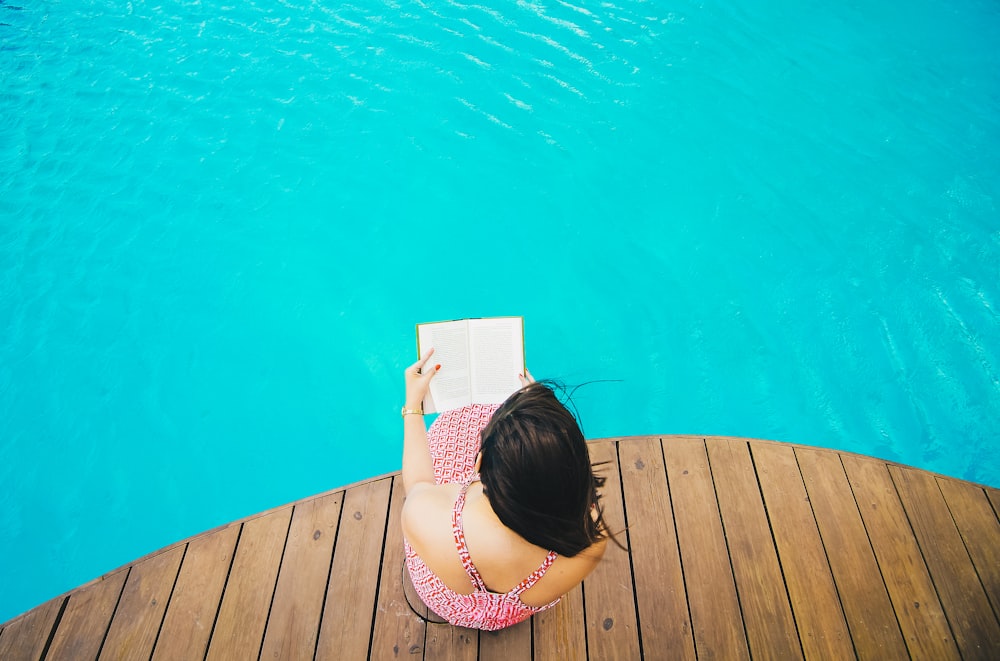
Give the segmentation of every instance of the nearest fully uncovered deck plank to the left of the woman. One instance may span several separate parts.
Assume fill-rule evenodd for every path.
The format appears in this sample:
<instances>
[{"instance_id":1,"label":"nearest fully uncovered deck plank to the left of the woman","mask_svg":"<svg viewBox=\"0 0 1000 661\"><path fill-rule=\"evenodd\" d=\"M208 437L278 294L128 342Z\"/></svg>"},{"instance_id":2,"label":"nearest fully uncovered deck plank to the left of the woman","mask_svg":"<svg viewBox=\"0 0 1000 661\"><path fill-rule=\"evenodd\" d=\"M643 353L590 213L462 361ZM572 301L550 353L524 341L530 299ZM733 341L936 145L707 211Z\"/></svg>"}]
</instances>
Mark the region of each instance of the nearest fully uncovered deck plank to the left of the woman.
<instances>
[{"instance_id":1,"label":"nearest fully uncovered deck plank to the left of the woman","mask_svg":"<svg viewBox=\"0 0 1000 661\"><path fill-rule=\"evenodd\" d=\"M344 496L317 659L368 656L392 482L369 482Z\"/></svg>"}]
</instances>

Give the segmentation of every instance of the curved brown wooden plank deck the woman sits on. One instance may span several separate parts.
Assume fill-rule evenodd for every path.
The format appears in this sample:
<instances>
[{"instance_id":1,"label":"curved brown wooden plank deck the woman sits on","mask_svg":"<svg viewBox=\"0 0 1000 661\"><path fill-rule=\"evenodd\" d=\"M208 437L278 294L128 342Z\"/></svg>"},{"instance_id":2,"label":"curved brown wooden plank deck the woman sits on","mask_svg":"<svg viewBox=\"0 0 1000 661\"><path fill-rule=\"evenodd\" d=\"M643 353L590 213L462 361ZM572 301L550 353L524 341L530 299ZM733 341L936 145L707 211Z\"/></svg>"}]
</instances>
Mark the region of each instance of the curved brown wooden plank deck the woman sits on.
<instances>
[{"instance_id":1,"label":"curved brown wooden plank deck the woman sits on","mask_svg":"<svg viewBox=\"0 0 1000 661\"><path fill-rule=\"evenodd\" d=\"M411 610L395 473L53 599L0 625L0 659L1000 658L997 489L739 438L591 449L631 552L609 545L582 587L512 629Z\"/></svg>"}]
</instances>

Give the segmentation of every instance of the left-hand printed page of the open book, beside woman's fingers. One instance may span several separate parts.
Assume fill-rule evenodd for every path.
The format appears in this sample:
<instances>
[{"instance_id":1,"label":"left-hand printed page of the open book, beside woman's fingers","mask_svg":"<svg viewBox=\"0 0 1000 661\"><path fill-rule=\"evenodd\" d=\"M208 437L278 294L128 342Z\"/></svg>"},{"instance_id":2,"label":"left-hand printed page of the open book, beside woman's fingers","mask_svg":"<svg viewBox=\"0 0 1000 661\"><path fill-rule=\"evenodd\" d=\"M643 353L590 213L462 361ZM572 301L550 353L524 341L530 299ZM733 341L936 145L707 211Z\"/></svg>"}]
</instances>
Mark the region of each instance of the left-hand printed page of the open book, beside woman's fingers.
<instances>
[{"instance_id":1,"label":"left-hand printed page of the open book, beside woman's fingers","mask_svg":"<svg viewBox=\"0 0 1000 661\"><path fill-rule=\"evenodd\" d=\"M434 348L425 369L441 370L431 379L430 392L424 399L425 413L438 413L472 403L469 387L469 333L462 321L442 321L417 325L417 351L423 355Z\"/></svg>"}]
</instances>

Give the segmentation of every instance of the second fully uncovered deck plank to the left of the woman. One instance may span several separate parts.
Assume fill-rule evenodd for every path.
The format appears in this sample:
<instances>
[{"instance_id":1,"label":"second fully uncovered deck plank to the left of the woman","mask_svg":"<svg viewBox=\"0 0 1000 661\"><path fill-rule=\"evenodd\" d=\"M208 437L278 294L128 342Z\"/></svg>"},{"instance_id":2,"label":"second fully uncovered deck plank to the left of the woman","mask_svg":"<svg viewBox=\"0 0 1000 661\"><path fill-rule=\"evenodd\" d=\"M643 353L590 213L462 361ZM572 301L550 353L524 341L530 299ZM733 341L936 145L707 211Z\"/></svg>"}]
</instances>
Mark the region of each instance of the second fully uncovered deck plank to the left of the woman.
<instances>
[{"instance_id":1,"label":"second fully uncovered deck plank to the left of the woman","mask_svg":"<svg viewBox=\"0 0 1000 661\"><path fill-rule=\"evenodd\" d=\"M295 505L262 659L312 659L344 492Z\"/></svg>"}]
</instances>

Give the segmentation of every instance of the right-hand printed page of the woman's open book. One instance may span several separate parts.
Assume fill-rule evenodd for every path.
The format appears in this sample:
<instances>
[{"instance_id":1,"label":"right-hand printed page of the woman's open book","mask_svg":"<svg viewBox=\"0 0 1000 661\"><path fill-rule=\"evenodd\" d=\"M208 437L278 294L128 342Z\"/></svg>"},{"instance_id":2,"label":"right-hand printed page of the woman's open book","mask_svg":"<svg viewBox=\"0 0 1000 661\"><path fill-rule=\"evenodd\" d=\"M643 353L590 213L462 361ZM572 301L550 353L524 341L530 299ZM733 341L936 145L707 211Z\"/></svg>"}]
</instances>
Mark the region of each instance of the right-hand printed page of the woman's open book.
<instances>
[{"instance_id":1,"label":"right-hand printed page of the woman's open book","mask_svg":"<svg viewBox=\"0 0 1000 661\"><path fill-rule=\"evenodd\" d=\"M500 404L521 388L524 373L524 319L469 320L472 401Z\"/></svg>"}]
</instances>

